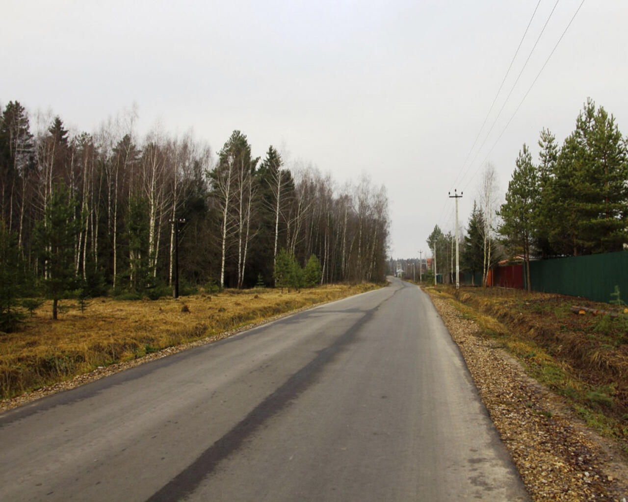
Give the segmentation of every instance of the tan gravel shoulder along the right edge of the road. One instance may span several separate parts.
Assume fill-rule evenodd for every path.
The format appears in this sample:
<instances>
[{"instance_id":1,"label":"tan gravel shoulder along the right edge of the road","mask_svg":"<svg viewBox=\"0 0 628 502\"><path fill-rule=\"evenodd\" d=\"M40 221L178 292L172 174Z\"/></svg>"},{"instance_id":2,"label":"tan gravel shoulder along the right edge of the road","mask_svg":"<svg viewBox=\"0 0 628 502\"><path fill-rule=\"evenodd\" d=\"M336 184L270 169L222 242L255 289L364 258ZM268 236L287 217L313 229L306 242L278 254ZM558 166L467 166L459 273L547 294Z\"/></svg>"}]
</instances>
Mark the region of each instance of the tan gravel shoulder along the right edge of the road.
<instances>
[{"instance_id":1,"label":"tan gravel shoulder along the right edge of the road","mask_svg":"<svg viewBox=\"0 0 628 502\"><path fill-rule=\"evenodd\" d=\"M534 501L625 502L628 466L561 398L531 379L477 323L430 295L458 344L495 427Z\"/></svg>"}]
</instances>

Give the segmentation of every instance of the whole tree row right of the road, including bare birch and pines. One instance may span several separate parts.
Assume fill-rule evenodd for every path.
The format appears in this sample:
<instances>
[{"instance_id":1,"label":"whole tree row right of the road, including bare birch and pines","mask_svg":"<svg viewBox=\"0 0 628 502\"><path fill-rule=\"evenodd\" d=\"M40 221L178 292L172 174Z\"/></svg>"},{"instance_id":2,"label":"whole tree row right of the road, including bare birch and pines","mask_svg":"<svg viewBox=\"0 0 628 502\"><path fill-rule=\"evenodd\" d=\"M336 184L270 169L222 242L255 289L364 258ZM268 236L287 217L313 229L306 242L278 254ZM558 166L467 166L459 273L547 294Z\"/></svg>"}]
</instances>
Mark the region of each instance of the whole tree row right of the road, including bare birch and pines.
<instances>
[{"instance_id":1,"label":"whole tree row right of the road, including bare birch and pines","mask_svg":"<svg viewBox=\"0 0 628 502\"><path fill-rule=\"evenodd\" d=\"M559 146L540 133L539 160L526 144L515 162L506 201L495 210L494 168L480 180L479 203L460 238L461 270L487 270L504 257L548 259L615 252L628 243L628 139L615 117L587 100L575 131ZM497 238L499 236L499 238ZM452 257L453 236L438 225L428 237L437 257ZM443 274L452 270L438 266ZM526 267L527 284L529 267Z\"/></svg>"}]
</instances>

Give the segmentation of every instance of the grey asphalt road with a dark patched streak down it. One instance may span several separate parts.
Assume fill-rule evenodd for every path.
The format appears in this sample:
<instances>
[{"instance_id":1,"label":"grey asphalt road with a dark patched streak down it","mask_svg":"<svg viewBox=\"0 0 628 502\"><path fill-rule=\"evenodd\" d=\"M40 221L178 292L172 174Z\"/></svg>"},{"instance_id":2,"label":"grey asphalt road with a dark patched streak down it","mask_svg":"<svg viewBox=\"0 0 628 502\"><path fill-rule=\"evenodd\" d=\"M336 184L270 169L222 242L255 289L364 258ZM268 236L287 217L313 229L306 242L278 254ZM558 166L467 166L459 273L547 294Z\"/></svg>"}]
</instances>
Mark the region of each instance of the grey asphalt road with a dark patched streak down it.
<instances>
[{"instance_id":1,"label":"grey asphalt road with a dark patched streak down it","mask_svg":"<svg viewBox=\"0 0 628 502\"><path fill-rule=\"evenodd\" d=\"M0 499L528 498L430 299L393 279L0 415Z\"/></svg>"}]
</instances>

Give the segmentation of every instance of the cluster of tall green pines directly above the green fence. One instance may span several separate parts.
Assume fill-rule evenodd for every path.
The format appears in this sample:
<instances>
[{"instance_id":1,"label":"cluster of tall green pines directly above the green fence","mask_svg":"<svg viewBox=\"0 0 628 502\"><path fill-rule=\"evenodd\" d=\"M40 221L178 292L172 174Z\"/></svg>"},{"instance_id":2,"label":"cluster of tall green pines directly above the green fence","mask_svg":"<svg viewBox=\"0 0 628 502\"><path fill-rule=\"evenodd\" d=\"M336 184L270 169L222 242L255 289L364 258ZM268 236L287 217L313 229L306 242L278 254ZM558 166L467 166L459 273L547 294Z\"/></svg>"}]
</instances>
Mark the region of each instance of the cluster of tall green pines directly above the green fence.
<instances>
[{"instance_id":1,"label":"cluster of tall green pines directly above the green fence","mask_svg":"<svg viewBox=\"0 0 628 502\"><path fill-rule=\"evenodd\" d=\"M628 143L615 117L587 100L562 146L543 129L535 164L516 159L498 231L510 254L540 259L609 253L628 242ZM529 281L529 267L526 267Z\"/></svg>"}]
</instances>

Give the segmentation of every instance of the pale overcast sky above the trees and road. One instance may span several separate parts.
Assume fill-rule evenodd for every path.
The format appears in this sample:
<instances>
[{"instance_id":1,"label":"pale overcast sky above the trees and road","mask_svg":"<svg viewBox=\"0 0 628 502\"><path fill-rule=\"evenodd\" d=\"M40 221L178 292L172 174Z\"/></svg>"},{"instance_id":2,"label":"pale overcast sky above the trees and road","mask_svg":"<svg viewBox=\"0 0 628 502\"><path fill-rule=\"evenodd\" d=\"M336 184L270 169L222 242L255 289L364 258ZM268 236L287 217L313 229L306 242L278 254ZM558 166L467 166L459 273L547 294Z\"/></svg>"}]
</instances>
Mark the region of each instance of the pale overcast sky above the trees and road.
<instances>
[{"instance_id":1,"label":"pale overcast sky above the trees and road","mask_svg":"<svg viewBox=\"0 0 628 502\"><path fill-rule=\"evenodd\" d=\"M338 186L366 174L394 257L453 230L454 188L466 223L485 163L503 195L522 144L562 142L587 97L628 133L625 0L4 0L2 17L3 107L95 131L136 105L139 136L192 128L217 151L240 129Z\"/></svg>"}]
</instances>

